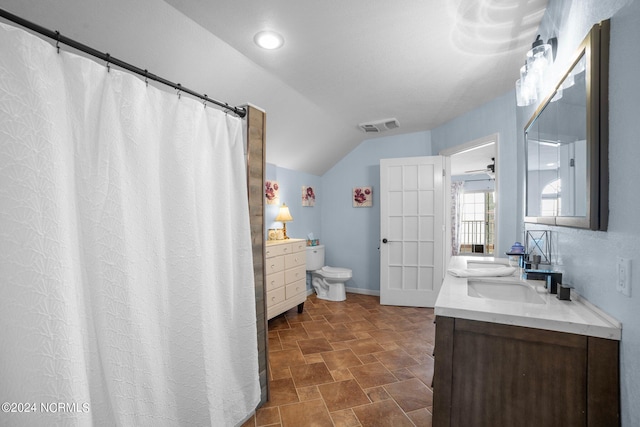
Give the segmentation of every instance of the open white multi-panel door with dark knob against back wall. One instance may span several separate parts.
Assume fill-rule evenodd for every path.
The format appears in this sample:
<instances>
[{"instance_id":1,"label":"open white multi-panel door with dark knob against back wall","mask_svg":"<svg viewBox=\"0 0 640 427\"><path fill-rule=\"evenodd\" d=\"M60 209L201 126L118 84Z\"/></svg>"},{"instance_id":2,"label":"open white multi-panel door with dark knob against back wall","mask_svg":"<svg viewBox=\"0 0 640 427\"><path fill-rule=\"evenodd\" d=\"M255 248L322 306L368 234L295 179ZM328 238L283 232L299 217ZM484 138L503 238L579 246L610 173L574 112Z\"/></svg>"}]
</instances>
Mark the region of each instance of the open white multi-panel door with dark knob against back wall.
<instances>
[{"instance_id":1,"label":"open white multi-panel door with dark knob against back wall","mask_svg":"<svg viewBox=\"0 0 640 427\"><path fill-rule=\"evenodd\" d=\"M380 303L433 307L444 277L443 158L380 160Z\"/></svg>"}]
</instances>

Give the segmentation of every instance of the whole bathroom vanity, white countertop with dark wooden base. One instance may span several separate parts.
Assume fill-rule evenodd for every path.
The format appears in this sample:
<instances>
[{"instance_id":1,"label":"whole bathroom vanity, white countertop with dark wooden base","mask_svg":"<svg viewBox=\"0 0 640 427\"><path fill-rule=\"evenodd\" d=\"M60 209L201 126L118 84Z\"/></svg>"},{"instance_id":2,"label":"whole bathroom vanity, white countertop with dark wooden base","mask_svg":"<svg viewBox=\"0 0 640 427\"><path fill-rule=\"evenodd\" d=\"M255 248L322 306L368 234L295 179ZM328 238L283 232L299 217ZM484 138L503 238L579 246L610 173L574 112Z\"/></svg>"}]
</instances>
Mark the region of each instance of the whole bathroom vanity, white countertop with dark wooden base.
<instances>
[{"instance_id":1,"label":"whole bathroom vanity, white countertop with dark wooden base","mask_svg":"<svg viewBox=\"0 0 640 427\"><path fill-rule=\"evenodd\" d=\"M447 274L435 314L434 426L620 425L621 326L579 295L558 300L518 271Z\"/></svg>"}]
</instances>

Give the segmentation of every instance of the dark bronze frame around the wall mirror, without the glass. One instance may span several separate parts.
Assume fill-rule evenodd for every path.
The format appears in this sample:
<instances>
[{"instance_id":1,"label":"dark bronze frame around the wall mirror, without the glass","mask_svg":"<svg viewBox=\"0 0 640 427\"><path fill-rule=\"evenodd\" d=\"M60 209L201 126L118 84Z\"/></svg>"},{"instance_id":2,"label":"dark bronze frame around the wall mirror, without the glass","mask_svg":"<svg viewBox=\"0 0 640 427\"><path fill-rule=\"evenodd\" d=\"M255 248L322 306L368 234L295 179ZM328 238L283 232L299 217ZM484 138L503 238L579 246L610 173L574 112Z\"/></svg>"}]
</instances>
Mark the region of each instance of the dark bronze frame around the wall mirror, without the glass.
<instances>
[{"instance_id":1,"label":"dark bronze frame around the wall mirror, without the glass","mask_svg":"<svg viewBox=\"0 0 640 427\"><path fill-rule=\"evenodd\" d=\"M587 212L586 216L527 216L525 196L524 221L563 227L606 231L609 220L609 20L594 25L549 96L524 128L525 189L528 191L527 131L551 102L562 83L584 55L587 90Z\"/></svg>"}]
</instances>

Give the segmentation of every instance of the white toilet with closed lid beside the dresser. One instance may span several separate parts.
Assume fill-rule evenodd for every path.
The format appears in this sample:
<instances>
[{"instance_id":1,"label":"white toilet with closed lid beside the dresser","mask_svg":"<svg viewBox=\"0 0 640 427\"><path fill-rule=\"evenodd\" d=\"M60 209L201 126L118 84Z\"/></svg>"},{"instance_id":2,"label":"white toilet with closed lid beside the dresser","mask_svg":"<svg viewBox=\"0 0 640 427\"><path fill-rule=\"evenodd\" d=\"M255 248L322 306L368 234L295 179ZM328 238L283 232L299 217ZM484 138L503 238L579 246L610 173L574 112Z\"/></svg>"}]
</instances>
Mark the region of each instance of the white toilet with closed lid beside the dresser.
<instances>
[{"instance_id":1,"label":"white toilet with closed lid beside the dresser","mask_svg":"<svg viewBox=\"0 0 640 427\"><path fill-rule=\"evenodd\" d=\"M347 299L344 282L351 279L351 270L324 265L324 245L307 246L307 271L311 271L311 285L318 298L328 301Z\"/></svg>"}]
</instances>

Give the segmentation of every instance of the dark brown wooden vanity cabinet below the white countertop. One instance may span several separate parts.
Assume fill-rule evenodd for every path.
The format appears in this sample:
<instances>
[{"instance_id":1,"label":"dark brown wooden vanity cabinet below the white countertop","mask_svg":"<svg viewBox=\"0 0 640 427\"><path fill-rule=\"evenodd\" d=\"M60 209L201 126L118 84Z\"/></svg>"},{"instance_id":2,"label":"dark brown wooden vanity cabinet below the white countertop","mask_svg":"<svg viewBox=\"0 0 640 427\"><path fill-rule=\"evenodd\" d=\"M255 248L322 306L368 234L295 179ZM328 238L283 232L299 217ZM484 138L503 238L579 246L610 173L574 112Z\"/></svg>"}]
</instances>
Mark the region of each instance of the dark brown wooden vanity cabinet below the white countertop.
<instances>
[{"instance_id":1,"label":"dark brown wooden vanity cabinet below the white countertop","mask_svg":"<svg viewBox=\"0 0 640 427\"><path fill-rule=\"evenodd\" d=\"M436 316L433 425L619 426L619 342Z\"/></svg>"}]
</instances>

